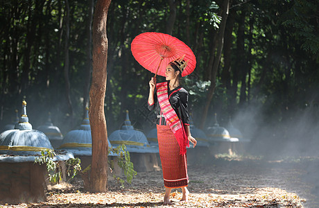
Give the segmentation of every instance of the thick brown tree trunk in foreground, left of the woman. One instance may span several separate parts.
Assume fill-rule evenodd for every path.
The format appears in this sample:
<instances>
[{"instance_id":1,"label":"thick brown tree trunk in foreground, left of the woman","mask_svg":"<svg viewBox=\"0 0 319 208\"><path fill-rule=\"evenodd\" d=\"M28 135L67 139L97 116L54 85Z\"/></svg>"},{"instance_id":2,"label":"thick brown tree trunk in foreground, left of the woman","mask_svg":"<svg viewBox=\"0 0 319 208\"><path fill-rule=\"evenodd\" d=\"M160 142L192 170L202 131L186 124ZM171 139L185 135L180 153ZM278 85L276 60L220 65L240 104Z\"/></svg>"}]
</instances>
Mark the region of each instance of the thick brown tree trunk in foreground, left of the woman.
<instances>
[{"instance_id":1,"label":"thick brown tree trunk in foreground, left of the woman","mask_svg":"<svg viewBox=\"0 0 319 208\"><path fill-rule=\"evenodd\" d=\"M107 80L107 10L111 0L98 0L93 19L93 71L89 91L89 122L92 131L90 191L107 191L107 128L104 98Z\"/></svg>"}]
</instances>

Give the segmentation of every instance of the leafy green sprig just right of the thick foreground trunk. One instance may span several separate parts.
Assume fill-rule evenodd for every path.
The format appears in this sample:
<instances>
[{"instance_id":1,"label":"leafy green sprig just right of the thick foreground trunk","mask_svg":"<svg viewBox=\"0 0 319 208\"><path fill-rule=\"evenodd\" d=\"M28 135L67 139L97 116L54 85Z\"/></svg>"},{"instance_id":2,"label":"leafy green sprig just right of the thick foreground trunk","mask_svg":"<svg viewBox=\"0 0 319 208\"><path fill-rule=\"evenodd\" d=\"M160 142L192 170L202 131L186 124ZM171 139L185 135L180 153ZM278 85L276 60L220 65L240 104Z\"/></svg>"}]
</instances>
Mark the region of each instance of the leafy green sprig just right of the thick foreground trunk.
<instances>
[{"instance_id":1,"label":"leafy green sprig just right of the thick foreground trunk","mask_svg":"<svg viewBox=\"0 0 319 208\"><path fill-rule=\"evenodd\" d=\"M126 146L122 144L117 146L117 148L112 148L110 151L116 155L119 155L119 157L117 157L117 164L119 164L119 167L124 171L126 181L130 184L133 177L137 175L137 172L134 170L133 163L130 162L130 153L126 150ZM117 177L116 175L113 175L113 177L119 183L121 183L121 187L124 187L124 180L122 180L121 177Z\"/></svg>"}]
</instances>

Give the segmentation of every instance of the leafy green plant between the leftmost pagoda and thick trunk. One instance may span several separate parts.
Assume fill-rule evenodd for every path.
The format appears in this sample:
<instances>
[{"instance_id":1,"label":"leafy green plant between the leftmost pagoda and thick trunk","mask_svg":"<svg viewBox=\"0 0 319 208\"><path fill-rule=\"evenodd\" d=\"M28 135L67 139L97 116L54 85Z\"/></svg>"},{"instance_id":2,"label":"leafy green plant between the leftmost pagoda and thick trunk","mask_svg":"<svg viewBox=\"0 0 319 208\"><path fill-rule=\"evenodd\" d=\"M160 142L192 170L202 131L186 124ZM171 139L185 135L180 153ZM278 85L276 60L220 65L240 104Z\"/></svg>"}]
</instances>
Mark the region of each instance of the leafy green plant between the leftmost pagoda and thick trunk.
<instances>
[{"instance_id":1,"label":"leafy green plant between the leftmost pagoda and thick trunk","mask_svg":"<svg viewBox=\"0 0 319 208\"><path fill-rule=\"evenodd\" d=\"M59 182L62 177L62 167L58 161L53 161L56 156L54 150L46 149L41 150L41 156L35 159L35 163L45 164L46 170L48 171L50 182ZM70 158L67 161L61 161L66 165L66 174L70 177L70 180L74 178L79 171L81 171L80 159Z\"/></svg>"}]
</instances>

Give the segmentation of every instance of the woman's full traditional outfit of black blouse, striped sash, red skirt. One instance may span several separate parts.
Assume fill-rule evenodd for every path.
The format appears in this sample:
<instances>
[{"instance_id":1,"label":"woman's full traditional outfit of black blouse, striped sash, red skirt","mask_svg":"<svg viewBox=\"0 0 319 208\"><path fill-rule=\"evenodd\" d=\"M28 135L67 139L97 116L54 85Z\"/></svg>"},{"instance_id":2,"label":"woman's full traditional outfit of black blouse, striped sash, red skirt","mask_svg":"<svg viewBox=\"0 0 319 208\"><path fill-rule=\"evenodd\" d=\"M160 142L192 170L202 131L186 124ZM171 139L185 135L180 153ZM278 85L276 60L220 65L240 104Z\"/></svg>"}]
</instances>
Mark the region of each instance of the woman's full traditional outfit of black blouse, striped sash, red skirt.
<instances>
[{"instance_id":1,"label":"woman's full traditional outfit of black blouse, striped sash, red skirt","mask_svg":"<svg viewBox=\"0 0 319 208\"><path fill-rule=\"evenodd\" d=\"M164 186L168 188L187 187L189 182L186 156L189 141L184 130L184 125L189 125L188 95L187 90L181 86L169 90L169 82L157 83L155 102L148 103L148 109L155 110L157 114L158 146ZM165 107L163 99L169 106ZM182 128L178 129L178 126Z\"/></svg>"}]
</instances>

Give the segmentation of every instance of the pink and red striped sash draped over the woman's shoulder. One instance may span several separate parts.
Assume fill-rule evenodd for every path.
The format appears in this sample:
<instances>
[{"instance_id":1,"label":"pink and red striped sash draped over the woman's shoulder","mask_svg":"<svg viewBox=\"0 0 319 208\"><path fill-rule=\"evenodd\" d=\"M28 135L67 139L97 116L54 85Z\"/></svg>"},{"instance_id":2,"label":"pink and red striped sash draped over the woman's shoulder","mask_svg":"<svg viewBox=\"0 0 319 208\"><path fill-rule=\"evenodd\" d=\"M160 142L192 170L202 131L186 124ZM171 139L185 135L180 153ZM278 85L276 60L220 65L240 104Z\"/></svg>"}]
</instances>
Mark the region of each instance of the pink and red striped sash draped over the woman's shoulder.
<instances>
[{"instance_id":1,"label":"pink and red striped sash draped over the woman's shoulder","mask_svg":"<svg viewBox=\"0 0 319 208\"><path fill-rule=\"evenodd\" d=\"M168 82L165 83L157 83L157 99L160 103L161 110L163 112L164 118L166 120L167 125L171 128L178 144L180 146L180 155L184 155L186 153L186 147L189 146L189 141L187 139L186 132L182 126L182 122L178 118L178 114L176 114L175 110L169 103L169 95L168 95Z\"/></svg>"}]
</instances>

